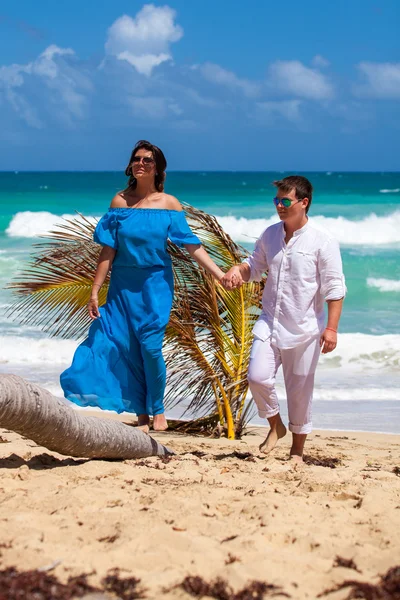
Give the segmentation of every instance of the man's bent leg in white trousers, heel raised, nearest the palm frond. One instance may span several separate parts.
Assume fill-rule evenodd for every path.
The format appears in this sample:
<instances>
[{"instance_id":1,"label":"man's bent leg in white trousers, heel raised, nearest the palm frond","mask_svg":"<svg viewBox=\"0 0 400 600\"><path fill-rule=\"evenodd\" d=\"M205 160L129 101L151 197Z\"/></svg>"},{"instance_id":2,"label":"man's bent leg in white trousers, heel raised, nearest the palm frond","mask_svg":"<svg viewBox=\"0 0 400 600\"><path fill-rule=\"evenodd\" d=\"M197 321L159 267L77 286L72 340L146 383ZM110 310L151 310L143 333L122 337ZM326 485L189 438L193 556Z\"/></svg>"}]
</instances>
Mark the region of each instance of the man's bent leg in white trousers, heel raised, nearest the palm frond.
<instances>
[{"instance_id":1,"label":"man's bent leg in white trousers, heel raised, nearest the palm frond","mask_svg":"<svg viewBox=\"0 0 400 600\"><path fill-rule=\"evenodd\" d=\"M286 435L286 427L279 414L279 402L275 390L276 372L281 364L280 353L271 346L270 340L255 337L250 353L247 379L261 418L268 419L270 431L260 445L261 452L268 454L277 441Z\"/></svg>"}]
</instances>

